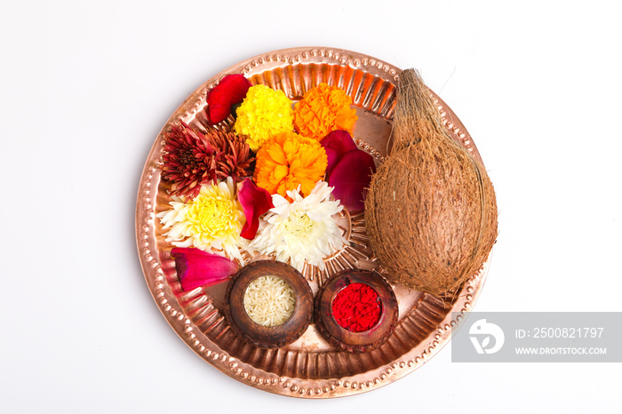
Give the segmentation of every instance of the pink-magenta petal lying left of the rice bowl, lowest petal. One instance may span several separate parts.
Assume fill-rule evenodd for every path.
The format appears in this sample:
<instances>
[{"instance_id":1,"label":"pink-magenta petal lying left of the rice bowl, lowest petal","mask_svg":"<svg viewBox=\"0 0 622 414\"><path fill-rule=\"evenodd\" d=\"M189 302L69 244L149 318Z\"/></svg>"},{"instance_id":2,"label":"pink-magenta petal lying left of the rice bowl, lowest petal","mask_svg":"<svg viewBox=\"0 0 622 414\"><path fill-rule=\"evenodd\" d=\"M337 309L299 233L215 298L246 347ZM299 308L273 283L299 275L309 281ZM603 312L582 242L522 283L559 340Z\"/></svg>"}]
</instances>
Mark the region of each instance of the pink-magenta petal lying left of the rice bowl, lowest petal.
<instances>
[{"instance_id":1,"label":"pink-magenta petal lying left of the rice bowl, lowest petal","mask_svg":"<svg viewBox=\"0 0 622 414\"><path fill-rule=\"evenodd\" d=\"M226 281L237 272L237 265L217 254L195 248L175 247L171 250L183 291Z\"/></svg>"}]
</instances>

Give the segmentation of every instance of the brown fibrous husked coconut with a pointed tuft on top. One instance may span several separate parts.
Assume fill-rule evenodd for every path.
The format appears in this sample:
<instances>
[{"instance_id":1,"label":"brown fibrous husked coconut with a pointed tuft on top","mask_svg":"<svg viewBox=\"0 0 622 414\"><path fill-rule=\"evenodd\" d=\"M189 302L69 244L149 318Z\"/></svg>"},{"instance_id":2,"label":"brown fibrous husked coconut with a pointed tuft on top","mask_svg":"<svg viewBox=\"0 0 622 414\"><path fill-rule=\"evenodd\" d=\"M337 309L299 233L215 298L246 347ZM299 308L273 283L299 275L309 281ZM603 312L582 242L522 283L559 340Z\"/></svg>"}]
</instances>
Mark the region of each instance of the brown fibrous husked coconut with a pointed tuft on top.
<instances>
[{"instance_id":1,"label":"brown fibrous husked coconut with a pointed tuft on top","mask_svg":"<svg viewBox=\"0 0 622 414\"><path fill-rule=\"evenodd\" d=\"M488 174L451 138L413 69L399 77L392 136L365 200L371 248L389 279L435 295L458 291L497 238Z\"/></svg>"}]
</instances>

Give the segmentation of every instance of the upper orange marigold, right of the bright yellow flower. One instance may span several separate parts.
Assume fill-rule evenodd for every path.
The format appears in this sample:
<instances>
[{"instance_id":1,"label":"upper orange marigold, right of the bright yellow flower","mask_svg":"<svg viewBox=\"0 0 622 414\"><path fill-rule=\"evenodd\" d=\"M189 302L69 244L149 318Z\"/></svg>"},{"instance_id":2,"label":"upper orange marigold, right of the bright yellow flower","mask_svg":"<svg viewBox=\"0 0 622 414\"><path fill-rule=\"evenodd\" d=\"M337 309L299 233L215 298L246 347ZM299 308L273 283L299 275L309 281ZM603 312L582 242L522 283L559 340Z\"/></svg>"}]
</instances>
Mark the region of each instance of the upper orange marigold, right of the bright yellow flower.
<instances>
[{"instance_id":1,"label":"upper orange marigold, right of the bright yellow flower","mask_svg":"<svg viewBox=\"0 0 622 414\"><path fill-rule=\"evenodd\" d=\"M352 133L358 117L350 105L352 98L343 90L329 84L318 84L305 93L294 107L296 131L317 140L335 130Z\"/></svg>"}]
</instances>

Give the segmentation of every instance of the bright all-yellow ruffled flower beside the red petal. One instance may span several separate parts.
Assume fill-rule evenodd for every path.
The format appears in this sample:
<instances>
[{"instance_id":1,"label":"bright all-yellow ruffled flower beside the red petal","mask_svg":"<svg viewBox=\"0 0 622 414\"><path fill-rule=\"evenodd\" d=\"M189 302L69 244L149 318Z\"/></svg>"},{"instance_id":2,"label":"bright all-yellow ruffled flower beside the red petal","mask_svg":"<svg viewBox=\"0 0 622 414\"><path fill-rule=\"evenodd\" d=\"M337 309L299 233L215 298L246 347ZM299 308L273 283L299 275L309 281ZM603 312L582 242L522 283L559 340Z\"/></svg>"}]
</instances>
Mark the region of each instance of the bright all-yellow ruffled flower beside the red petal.
<instances>
[{"instance_id":1,"label":"bright all-yellow ruffled flower beside the red petal","mask_svg":"<svg viewBox=\"0 0 622 414\"><path fill-rule=\"evenodd\" d=\"M293 131L292 102L283 91L275 91L263 84L251 86L235 114L235 132L246 136L246 142L255 152L270 137L284 131Z\"/></svg>"}]
</instances>

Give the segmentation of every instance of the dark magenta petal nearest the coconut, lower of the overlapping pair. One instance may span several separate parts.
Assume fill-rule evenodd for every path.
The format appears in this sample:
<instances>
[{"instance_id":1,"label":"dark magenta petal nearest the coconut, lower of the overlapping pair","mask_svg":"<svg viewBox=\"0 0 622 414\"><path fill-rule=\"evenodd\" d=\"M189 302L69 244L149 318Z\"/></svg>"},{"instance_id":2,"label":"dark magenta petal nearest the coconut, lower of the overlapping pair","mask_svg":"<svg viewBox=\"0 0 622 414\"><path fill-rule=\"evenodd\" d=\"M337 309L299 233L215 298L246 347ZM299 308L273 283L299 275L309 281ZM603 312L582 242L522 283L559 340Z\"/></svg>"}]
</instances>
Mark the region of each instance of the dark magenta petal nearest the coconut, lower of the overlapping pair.
<instances>
[{"instance_id":1,"label":"dark magenta petal nearest the coconut, lower of the overlapping pair","mask_svg":"<svg viewBox=\"0 0 622 414\"><path fill-rule=\"evenodd\" d=\"M348 210L364 210L367 188L374 172L376 165L371 155L360 149L348 151L335 165L328 180L329 186L335 187L332 195Z\"/></svg>"}]
</instances>

